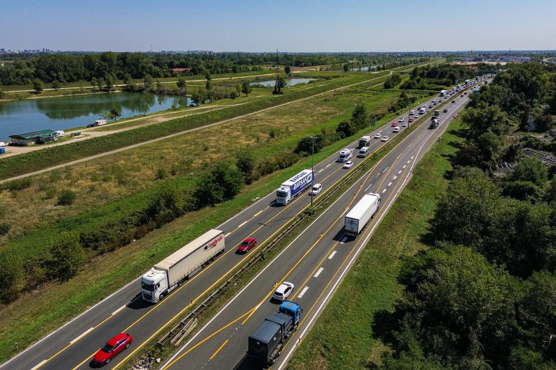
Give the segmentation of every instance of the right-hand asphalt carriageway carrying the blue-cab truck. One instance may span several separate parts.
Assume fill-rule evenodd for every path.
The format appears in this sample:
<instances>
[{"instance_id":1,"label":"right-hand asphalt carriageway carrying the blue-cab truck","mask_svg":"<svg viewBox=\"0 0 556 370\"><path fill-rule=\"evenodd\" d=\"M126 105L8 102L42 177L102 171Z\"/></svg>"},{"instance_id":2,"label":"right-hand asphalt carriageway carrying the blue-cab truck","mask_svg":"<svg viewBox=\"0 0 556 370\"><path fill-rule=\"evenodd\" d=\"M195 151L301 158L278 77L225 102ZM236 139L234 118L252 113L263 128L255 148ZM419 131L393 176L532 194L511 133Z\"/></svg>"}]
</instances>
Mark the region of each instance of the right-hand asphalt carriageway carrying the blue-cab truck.
<instances>
[{"instance_id":1,"label":"right-hand asphalt carriageway carrying the blue-cab truck","mask_svg":"<svg viewBox=\"0 0 556 370\"><path fill-rule=\"evenodd\" d=\"M466 98L450 103L441 114L439 128L428 129L428 122L400 142L377 166L363 174L361 180L345 192L302 235L295 239L264 271L254 278L229 304L200 329L168 360L163 369L257 369L262 368L246 356L247 337L265 317L276 312L279 303L272 301L275 282L295 285L289 300L304 308L302 323L290 339L273 369L281 369L293 352L299 337L318 317L357 257L379 221L406 185L411 169L438 139ZM359 237L343 235L343 216L364 194L382 196L382 206ZM324 233L323 233L324 232Z\"/></svg>"}]
</instances>

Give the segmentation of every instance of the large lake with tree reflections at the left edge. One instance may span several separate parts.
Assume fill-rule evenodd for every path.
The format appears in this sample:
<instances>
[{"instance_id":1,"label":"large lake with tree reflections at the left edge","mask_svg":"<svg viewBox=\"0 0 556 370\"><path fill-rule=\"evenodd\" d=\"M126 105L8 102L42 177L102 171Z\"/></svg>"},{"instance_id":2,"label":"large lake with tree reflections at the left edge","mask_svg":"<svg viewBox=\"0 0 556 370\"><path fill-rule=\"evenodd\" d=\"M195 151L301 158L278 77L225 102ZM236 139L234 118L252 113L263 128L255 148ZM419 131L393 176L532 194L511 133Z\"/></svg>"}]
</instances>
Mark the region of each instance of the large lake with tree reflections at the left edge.
<instances>
[{"instance_id":1,"label":"large lake with tree reflections at the left edge","mask_svg":"<svg viewBox=\"0 0 556 370\"><path fill-rule=\"evenodd\" d=\"M174 101L179 106L192 103L185 96L137 92L0 101L0 141L8 140L8 135L45 128L56 131L87 126L112 108L122 112L120 118L160 112L172 108Z\"/></svg>"}]
</instances>

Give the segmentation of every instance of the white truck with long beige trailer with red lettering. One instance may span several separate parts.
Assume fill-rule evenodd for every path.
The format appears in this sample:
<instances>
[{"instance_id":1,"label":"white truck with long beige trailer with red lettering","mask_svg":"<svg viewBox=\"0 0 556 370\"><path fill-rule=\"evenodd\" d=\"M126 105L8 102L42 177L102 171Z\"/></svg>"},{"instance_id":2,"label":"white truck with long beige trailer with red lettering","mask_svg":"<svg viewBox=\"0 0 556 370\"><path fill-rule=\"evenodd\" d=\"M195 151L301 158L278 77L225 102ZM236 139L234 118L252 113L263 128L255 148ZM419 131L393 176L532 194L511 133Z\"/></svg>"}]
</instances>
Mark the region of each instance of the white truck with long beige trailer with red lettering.
<instances>
[{"instance_id":1,"label":"white truck with long beige trailer with red lettering","mask_svg":"<svg viewBox=\"0 0 556 370\"><path fill-rule=\"evenodd\" d=\"M224 231L208 230L141 277L141 296L156 303L224 251Z\"/></svg>"}]
</instances>

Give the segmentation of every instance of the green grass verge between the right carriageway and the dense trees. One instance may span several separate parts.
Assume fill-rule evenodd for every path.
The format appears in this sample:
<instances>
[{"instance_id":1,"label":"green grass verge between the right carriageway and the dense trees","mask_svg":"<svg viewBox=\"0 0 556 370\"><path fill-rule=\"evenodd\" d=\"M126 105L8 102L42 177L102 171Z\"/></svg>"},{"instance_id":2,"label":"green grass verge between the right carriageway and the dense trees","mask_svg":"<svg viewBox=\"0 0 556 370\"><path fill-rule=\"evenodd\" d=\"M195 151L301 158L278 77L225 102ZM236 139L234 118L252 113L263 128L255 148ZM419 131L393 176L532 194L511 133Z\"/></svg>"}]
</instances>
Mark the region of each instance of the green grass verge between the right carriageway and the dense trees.
<instances>
[{"instance_id":1,"label":"green grass verge between the right carriageway and the dense trees","mask_svg":"<svg viewBox=\"0 0 556 370\"><path fill-rule=\"evenodd\" d=\"M420 238L427 232L438 194L448 185L447 158L462 141L459 128L458 121L452 122L442 142L436 142L414 169L288 369L369 369L381 364L382 353L390 351L382 338L391 336L384 318L393 312L402 292L397 282L400 258L428 248Z\"/></svg>"}]
</instances>

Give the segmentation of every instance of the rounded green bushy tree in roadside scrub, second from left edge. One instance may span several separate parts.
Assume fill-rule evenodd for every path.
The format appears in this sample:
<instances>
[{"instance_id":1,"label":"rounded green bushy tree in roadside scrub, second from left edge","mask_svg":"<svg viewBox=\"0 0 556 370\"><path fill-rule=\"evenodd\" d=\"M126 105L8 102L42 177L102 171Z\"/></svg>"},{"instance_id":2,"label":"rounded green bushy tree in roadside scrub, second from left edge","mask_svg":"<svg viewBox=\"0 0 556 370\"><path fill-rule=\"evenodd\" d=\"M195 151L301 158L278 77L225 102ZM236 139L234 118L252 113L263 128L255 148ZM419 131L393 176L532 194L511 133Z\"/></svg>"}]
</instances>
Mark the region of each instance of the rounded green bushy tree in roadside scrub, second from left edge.
<instances>
[{"instance_id":1,"label":"rounded green bushy tree in roadside scrub, second from left edge","mask_svg":"<svg viewBox=\"0 0 556 370\"><path fill-rule=\"evenodd\" d=\"M70 280L85 260L85 252L79 244L79 235L63 231L58 242L50 250L49 274L61 281Z\"/></svg>"}]
</instances>

